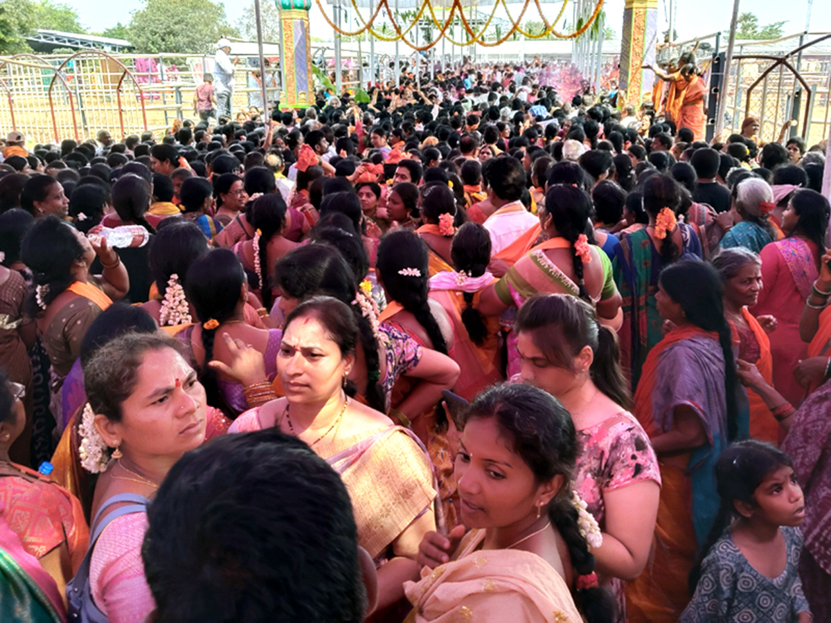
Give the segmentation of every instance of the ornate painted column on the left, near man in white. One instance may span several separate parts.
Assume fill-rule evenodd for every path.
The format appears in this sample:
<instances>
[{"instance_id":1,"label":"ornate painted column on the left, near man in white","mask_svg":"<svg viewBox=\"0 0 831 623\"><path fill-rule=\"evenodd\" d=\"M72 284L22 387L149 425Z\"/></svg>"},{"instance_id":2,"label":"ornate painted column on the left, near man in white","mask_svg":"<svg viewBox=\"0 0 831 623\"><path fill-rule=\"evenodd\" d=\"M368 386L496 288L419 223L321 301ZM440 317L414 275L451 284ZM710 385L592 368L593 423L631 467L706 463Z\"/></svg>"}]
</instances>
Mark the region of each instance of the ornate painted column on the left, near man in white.
<instances>
[{"instance_id":1,"label":"ornate painted column on the left, near man in white","mask_svg":"<svg viewBox=\"0 0 831 623\"><path fill-rule=\"evenodd\" d=\"M305 108L314 104L312 81L312 37L309 36L309 9L312 0L275 0L283 32L281 57L283 94L280 105Z\"/></svg>"}]
</instances>

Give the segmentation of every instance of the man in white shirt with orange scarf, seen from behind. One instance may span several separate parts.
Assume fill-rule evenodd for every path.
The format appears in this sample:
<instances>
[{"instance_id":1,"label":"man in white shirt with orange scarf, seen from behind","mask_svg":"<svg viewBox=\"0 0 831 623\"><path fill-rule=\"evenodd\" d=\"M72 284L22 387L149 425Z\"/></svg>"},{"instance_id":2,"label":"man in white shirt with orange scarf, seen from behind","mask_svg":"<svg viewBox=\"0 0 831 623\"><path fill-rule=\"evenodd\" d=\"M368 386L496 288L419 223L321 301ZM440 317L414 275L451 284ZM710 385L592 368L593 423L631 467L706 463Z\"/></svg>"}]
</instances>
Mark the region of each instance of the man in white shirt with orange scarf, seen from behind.
<instances>
[{"instance_id":1,"label":"man in white shirt with orange scarf, seen from behind","mask_svg":"<svg viewBox=\"0 0 831 623\"><path fill-rule=\"evenodd\" d=\"M538 223L519 200L525 189L525 169L513 157L491 159L487 167L488 199L496 208L484 222L495 255Z\"/></svg>"}]
</instances>

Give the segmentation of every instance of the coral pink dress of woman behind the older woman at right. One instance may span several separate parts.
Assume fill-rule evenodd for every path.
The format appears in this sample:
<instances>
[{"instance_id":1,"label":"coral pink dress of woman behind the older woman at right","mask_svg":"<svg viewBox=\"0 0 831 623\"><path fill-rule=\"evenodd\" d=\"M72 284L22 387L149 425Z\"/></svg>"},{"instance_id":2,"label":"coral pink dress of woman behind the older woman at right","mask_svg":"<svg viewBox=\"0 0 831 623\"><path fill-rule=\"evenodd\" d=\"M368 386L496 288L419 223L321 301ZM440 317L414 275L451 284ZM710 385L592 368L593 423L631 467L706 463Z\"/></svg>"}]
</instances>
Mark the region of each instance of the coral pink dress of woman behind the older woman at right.
<instances>
[{"instance_id":1,"label":"coral pink dress of woman behind the older woman at right","mask_svg":"<svg viewBox=\"0 0 831 623\"><path fill-rule=\"evenodd\" d=\"M754 316L770 314L776 318L776 331L770 334L774 387L794 406L805 394L804 387L794 379L794 368L808 354L808 345L799 336L799 319L811 284L819 275L816 251L813 243L795 237L763 248L759 256L765 287L750 310Z\"/></svg>"}]
</instances>

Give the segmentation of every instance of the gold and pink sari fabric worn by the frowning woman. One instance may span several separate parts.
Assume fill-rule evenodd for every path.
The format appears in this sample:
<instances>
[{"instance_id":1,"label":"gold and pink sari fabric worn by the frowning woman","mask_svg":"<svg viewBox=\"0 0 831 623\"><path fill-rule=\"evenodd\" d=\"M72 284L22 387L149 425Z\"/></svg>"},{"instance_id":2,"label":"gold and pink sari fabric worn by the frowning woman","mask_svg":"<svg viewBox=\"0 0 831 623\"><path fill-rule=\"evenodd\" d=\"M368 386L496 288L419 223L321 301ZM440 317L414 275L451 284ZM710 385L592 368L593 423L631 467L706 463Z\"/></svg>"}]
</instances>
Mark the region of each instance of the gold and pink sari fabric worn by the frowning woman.
<instances>
[{"instance_id":1,"label":"gold and pink sari fabric worn by the frowning woman","mask_svg":"<svg viewBox=\"0 0 831 623\"><path fill-rule=\"evenodd\" d=\"M259 408L234 420L229 433L273 426L259 419ZM341 475L352 498L358 543L373 559L416 518L431 511L435 478L421 442L401 426L370 430L334 441L323 440L315 452Z\"/></svg>"}]
</instances>

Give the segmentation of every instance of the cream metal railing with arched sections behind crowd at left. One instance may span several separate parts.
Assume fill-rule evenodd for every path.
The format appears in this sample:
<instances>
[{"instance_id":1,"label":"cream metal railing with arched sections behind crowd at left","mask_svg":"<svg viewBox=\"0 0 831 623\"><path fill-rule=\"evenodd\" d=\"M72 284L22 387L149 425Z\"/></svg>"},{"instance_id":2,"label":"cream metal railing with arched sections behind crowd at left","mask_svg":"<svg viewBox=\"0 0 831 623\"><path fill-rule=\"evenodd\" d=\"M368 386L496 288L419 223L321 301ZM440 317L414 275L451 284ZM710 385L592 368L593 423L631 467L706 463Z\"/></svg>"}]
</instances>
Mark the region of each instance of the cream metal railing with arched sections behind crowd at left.
<instances>
[{"instance_id":1,"label":"cream metal railing with arched sections behind crowd at left","mask_svg":"<svg viewBox=\"0 0 831 623\"><path fill-rule=\"evenodd\" d=\"M278 56L266 55L268 105L279 99ZM239 55L233 114L263 110L258 56ZM95 138L98 130L126 136L162 133L175 119L197 118L194 92L214 69L212 56L108 54L0 57L0 128L32 143Z\"/></svg>"}]
</instances>

